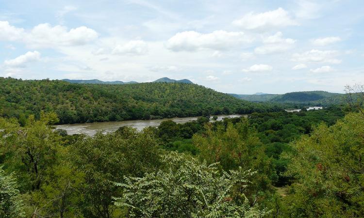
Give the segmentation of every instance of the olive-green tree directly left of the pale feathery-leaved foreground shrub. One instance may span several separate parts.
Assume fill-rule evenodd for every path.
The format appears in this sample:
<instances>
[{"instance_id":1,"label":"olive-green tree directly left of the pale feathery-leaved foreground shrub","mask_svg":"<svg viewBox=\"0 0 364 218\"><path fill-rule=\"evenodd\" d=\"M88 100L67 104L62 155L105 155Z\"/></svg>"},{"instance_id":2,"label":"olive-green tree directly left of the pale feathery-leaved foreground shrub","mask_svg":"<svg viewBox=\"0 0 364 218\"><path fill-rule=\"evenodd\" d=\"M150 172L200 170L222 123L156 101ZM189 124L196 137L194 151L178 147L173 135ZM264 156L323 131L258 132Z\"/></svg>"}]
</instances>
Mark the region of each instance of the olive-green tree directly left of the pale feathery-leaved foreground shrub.
<instances>
[{"instance_id":1,"label":"olive-green tree directly left of the pale feathery-leaved foreground shrub","mask_svg":"<svg viewBox=\"0 0 364 218\"><path fill-rule=\"evenodd\" d=\"M124 127L116 133L101 132L78 140L71 146L71 161L85 173L83 214L85 217L109 218L118 211L112 196L119 191L112 181L124 176L142 176L159 165L158 145L148 129L137 132Z\"/></svg>"}]
</instances>

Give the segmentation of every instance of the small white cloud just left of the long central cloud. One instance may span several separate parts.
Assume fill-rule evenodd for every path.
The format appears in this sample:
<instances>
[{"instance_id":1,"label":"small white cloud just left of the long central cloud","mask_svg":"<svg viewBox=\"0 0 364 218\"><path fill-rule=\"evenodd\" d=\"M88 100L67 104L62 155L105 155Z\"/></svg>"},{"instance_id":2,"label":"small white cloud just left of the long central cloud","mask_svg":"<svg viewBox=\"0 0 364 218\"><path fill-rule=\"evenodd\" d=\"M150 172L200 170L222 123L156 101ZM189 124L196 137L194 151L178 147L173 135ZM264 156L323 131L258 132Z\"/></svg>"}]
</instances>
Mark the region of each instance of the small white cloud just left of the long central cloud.
<instances>
[{"instance_id":1,"label":"small white cloud just left of the long central cloud","mask_svg":"<svg viewBox=\"0 0 364 218\"><path fill-rule=\"evenodd\" d=\"M112 53L120 55L144 55L148 53L148 44L143 40L132 40L124 45L117 45Z\"/></svg>"}]
</instances>

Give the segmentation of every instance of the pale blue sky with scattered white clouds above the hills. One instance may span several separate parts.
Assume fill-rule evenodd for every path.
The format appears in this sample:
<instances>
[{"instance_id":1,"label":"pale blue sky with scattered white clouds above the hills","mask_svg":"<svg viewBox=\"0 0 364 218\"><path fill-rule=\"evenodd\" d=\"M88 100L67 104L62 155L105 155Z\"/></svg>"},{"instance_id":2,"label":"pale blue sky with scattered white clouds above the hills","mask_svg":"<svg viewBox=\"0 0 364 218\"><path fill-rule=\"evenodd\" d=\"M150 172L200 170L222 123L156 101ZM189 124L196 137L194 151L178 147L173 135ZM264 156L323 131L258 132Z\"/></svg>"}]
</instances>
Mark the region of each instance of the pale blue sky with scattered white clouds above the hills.
<instances>
[{"instance_id":1,"label":"pale blue sky with scattered white clouds above the hills","mask_svg":"<svg viewBox=\"0 0 364 218\"><path fill-rule=\"evenodd\" d=\"M0 77L223 93L364 83L363 0L0 0Z\"/></svg>"}]
</instances>

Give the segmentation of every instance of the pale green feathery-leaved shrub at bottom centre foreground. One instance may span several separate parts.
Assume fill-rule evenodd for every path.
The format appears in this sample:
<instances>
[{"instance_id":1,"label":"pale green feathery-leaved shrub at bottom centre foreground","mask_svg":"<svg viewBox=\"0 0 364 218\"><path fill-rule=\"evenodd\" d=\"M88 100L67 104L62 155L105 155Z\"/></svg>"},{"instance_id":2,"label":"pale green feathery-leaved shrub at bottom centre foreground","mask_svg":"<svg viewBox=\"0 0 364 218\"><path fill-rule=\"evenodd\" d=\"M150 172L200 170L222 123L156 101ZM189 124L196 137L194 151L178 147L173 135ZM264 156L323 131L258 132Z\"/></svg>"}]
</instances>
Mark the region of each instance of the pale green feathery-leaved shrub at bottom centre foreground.
<instances>
[{"instance_id":1,"label":"pale green feathery-leaved shrub at bottom centre foreground","mask_svg":"<svg viewBox=\"0 0 364 218\"><path fill-rule=\"evenodd\" d=\"M128 217L263 217L266 209L249 207L244 189L253 172L239 168L230 174L218 171L196 158L169 153L162 158L163 170L143 178L126 177L116 206L127 209Z\"/></svg>"}]
</instances>

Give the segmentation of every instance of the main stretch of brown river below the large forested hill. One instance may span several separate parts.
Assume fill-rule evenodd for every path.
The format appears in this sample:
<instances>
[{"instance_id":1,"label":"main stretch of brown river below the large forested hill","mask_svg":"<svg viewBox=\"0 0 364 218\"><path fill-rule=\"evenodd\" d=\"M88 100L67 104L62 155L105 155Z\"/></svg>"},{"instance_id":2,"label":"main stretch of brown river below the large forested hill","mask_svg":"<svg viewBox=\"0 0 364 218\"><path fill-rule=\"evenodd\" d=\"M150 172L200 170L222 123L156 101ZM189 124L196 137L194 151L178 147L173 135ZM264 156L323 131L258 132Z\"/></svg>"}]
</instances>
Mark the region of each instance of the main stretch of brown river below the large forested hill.
<instances>
[{"instance_id":1,"label":"main stretch of brown river below the large forested hill","mask_svg":"<svg viewBox=\"0 0 364 218\"><path fill-rule=\"evenodd\" d=\"M232 115L218 115L217 120L222 120L225 117L241 117L246 115L232 114ZM66 125L54 125L56 129L65 129L68 135L73 134L86 134L89 136L95 135L98 130L103 132L114 132L120 126L131 126L138 130L142 130L147 126L158 126L162 121L172 120L177 124L187 123L189 121L197 120L198 117L175 117L165 118L162 120L128 120L120 122L102 122L102 123L89 123L89 124L66 124ZM211 117L212 120L212 117Z\"/></svg>"}]
</instances>

